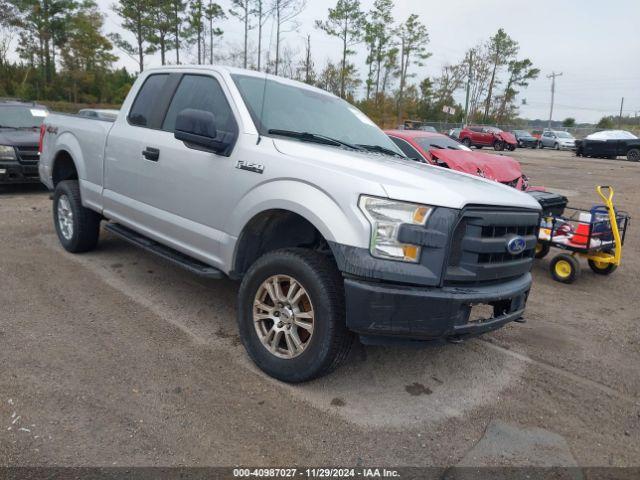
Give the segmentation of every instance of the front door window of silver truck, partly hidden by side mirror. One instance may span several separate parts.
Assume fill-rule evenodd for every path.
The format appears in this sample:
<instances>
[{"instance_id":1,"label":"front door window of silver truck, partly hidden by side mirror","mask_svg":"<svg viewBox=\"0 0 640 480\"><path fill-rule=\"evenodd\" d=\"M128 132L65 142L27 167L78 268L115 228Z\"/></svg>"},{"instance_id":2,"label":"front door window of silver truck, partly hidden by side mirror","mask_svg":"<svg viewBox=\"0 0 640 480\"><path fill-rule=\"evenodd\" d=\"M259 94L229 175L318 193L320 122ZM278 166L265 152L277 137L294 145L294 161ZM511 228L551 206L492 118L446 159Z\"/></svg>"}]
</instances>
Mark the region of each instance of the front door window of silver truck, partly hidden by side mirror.
<instances>
[{"instance_id":1,"label":"front door window of silver truck, partly hidden by side mirror","mask_svg":"<svg viewBox=\"0 0 640 480\"><path fill-rule=\"evenodd\" d=\"M220 131L227 133L237 131L227 97L218 81L213 77L205 75L185 75L182 77L162 123L162 129L173 132L178 114L188 108L213 113L216 126Z\"/></svg>"}]
</instances>

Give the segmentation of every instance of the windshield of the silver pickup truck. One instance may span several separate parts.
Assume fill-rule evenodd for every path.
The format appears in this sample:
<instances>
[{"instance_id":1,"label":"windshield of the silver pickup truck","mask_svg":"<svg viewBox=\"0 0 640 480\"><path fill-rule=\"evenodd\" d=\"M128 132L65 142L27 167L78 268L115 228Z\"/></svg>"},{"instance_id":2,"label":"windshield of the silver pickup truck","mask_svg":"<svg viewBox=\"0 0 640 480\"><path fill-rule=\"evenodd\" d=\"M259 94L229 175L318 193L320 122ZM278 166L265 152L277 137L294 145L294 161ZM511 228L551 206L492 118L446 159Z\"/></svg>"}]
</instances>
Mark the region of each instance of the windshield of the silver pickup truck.
<instances>
[{"instance_id":1,"label":"windshield of the silver pickup truck","mask_svg":"<svg viewBox=\"0 0 640 480\"><path fill-rule=\"evenodd\" d=\"M270 130L304 132L352 145L380 146L402 155L382 130L344 100L277 80L267 79L265 85L264 78L232 77L262 135Z\"/></svg>"}]
</instances>

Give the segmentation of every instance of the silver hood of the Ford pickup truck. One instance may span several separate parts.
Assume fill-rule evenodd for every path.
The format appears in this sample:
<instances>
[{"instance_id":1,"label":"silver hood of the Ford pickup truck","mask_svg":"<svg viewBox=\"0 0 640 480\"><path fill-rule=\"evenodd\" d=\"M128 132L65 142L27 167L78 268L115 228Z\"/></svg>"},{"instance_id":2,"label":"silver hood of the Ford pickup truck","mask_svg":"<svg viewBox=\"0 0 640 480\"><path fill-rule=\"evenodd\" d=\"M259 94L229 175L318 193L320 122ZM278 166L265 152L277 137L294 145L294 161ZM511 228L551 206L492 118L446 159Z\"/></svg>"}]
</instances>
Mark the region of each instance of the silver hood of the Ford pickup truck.
<instances>
[{"instance_id":1,"label":"silver hood of the Ford pickup truck","mask_svg":"<svg viewBox=\"0 0 640 480\"><path fill-rule=\"evenodd\" d=\"M395 200L458 209L466 205L540 209L540 204L530 195L447 168L295 140L273 139L273 142L280 153L308 163L309 169L328 170L336 182L347 181L355 187L362 187L362 182L375 183Z\"/></svg>"}]
</instances>

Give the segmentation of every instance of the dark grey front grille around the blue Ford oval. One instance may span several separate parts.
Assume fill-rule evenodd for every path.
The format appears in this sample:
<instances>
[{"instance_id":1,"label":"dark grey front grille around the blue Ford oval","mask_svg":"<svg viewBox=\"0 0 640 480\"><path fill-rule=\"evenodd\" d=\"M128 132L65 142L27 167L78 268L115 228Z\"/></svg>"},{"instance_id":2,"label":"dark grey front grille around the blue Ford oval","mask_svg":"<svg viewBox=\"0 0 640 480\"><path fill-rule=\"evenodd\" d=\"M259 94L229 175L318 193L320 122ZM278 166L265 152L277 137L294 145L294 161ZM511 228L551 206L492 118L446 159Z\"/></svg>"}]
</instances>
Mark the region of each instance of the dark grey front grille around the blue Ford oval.
<instances>
[{"instance_id":1,"label":"dark grey front grille around the blue Ford oval","mask_svg":"<svg viewBox=\"0 0 640 480\"><path fill-rule=\"evenodd\" d=\"M540 214L522 209L467 208L454 230L446 284L473 284L513 278L531 269ZM515 255L507 243L515 236L525 241Z\"/></svg>"}]
</instances>

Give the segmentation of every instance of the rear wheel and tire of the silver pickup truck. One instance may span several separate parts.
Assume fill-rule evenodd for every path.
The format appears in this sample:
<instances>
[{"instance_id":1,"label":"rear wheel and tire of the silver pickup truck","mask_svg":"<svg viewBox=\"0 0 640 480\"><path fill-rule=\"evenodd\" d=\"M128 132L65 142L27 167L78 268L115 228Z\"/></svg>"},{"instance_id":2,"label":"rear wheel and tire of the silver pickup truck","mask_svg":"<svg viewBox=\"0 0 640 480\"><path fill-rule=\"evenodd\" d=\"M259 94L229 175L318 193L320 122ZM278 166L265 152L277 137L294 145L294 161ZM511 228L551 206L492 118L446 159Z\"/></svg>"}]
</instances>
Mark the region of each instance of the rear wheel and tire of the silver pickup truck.
<instances>
[{"instance_id":1,"label":"rear wheel and tire of the silver pickup truck","mask_svg":"<svg viewBox=\"0 0 640 480\"><path fill-rule=\"evenodd\" d=\"M53 193L53 224L64 249L71 253L96 248L102 217L82 206L77 180L64 180Z\"/></svg>"}]
</instances>

